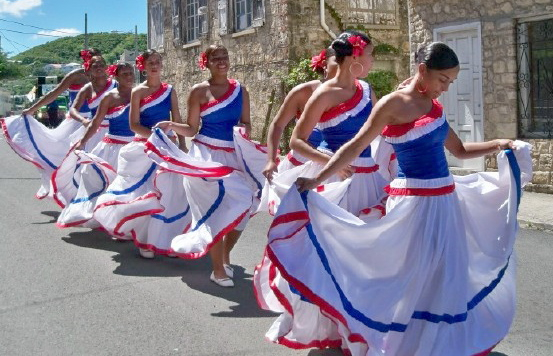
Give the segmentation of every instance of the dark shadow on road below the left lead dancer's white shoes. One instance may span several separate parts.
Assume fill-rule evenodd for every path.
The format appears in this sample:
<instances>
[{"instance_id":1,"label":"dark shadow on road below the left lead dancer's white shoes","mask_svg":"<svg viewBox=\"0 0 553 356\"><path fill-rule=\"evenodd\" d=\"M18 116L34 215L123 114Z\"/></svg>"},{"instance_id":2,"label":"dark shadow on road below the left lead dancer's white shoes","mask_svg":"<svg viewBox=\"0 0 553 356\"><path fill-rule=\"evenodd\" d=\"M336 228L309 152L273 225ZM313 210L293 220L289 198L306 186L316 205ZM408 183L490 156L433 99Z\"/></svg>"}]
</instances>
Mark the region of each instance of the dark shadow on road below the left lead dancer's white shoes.
<instances>
[{"instance_id":1,"label":"dark shadow on road below the left lead dancer's white shoes","mask_svg":"<svg viewBox=\"0 0 553 356\"><path fill-rule=\"evenodd\" d=\"M259 308L253 292L251 281L251 277L253 276L246 273L244 267L233 265L234 288L223 288L209 280L211 264L208 258L203 258L202 260L205 263L205 267L201 268L200 271L185 273L182 281L192 289L236 303L236 305L229 307L230 310L212 313L212 316L222 318L266 318L278 316L278 314Z\"/></svg>"}]
</instances>

